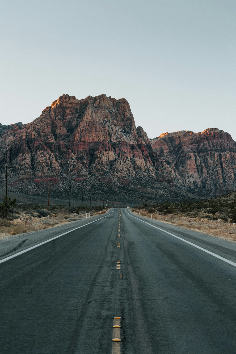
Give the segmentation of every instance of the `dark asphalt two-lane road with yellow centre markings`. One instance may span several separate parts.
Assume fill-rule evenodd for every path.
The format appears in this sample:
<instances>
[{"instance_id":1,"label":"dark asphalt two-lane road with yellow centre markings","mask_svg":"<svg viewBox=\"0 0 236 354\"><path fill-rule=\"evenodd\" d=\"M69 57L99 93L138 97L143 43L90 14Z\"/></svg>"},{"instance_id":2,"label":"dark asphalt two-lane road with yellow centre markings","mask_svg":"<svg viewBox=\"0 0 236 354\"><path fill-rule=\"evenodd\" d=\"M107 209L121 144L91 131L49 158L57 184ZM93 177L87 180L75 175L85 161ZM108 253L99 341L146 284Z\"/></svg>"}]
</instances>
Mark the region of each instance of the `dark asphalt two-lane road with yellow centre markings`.
<instances>
[{"instance_id":1,"label":"dark asphalt two-lane road with yellow centre markings","mask_svg":"<svg viewBox=\"0 0 236 354\"><path fill-rule=\"evenodd\" d=\"M0 255L2 354L236 352L234 243L114 209Z\"/></svg>"}]
</instances>

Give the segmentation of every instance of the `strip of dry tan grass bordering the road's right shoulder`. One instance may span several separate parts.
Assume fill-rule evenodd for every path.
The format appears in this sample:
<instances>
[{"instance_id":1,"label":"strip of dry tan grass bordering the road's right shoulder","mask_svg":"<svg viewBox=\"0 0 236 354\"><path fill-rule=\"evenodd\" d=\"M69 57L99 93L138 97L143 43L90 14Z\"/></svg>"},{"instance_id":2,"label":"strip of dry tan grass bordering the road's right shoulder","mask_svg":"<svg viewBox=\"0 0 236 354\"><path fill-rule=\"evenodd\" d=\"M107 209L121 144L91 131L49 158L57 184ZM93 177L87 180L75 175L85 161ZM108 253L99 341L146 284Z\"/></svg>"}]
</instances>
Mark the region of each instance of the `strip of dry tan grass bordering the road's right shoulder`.
<instances>
[{"instance_id":1,"label":"strip of dry tan grass bordering the road's right shoulder","mask_svg":"<svg viewBox=\"0 0 236 354\"><path fill-rule=\"evenodd\" d=\"M137 215L140 215L151 218L151 213L145 210L132 210ZM236 242L236 225L232 223L220 221L211 221L208 218L190 218L188 216L167 214L160 215L159 213L152 213L152 219L172 224L183 229L196 231L202 234L215 236L221 239L230 240Z\"/></svg>"}]
</instances>

